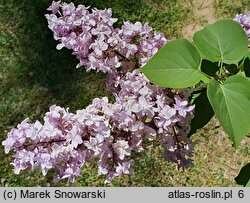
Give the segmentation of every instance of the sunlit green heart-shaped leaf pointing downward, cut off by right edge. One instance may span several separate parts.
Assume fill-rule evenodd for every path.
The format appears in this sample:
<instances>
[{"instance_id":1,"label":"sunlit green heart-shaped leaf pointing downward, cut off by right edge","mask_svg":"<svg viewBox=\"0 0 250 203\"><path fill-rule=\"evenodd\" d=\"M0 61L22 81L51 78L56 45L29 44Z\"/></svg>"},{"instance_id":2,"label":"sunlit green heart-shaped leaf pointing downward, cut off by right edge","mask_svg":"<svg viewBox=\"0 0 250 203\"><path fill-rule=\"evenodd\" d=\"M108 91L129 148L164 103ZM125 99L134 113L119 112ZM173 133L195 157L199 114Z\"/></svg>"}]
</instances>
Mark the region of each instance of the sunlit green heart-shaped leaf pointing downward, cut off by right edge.
<instances>
[{"instance_id":1,"label":"sunlit green heart-shaped leaf pointing downward, cut off by right edge","mask_svg":"<svg viewBox=\"0 0 250 203\"><path fill-rule=\"evenodd\" d=\"M231 76L224 84L211 80L207 94L221 125L237 147L250 129L250 80L242 75Z\"/></svg>"}]
</instances>

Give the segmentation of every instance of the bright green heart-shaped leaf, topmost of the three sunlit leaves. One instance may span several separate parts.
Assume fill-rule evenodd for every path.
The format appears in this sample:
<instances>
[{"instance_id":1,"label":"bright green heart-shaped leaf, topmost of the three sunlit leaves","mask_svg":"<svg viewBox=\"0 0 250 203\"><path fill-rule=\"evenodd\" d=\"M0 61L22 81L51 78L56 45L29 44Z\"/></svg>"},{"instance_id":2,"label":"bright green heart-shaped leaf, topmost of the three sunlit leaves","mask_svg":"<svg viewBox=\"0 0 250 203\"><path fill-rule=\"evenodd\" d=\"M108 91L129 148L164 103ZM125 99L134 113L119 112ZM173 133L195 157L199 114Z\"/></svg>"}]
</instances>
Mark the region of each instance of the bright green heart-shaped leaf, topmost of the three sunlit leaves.
<instances>
[{"instance_id":1,"label":"bright green heart-shaped leaf, topmost of the three sunlit leaves","mask_svg":"<svg viewBox=\"0 0 250 203\"><path fill-rule=\"evenodd\" d=\"M233 20L205 26L194 34L193 41L202 57L211 62L237 64L248 51L247 35Z\"/></svg>"}]
</instances>

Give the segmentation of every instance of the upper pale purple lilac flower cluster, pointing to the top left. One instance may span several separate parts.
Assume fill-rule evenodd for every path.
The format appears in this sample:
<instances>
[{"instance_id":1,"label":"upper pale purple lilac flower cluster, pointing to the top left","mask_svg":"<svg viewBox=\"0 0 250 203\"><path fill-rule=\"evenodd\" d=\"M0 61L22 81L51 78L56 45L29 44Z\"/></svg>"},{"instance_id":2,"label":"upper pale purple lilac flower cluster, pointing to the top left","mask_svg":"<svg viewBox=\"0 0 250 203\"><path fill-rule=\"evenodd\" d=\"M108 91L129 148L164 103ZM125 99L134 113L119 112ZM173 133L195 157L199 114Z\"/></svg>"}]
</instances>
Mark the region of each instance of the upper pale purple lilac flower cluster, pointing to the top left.
<instances>
[{"instance_id":1,"label":"upper pale purple lilac flower cluster, pointing to the top left","mask_svg":"<svg viewBox=\"0 0 250 203\"><path fill-rule=\"evenodd\" d=\"M124 59L139 59L140 64L162 47L167 39L162 33L153 32L147 23L124 22L121 29L114 28L117 21L111 9L98 10L73 3L53 2L47 14L49 28L60 44L73 50L79 59L77 67L87 70L114 73L123 67ZM126 66L125 66L126 67Z\"/></svg>"}]
</instances>

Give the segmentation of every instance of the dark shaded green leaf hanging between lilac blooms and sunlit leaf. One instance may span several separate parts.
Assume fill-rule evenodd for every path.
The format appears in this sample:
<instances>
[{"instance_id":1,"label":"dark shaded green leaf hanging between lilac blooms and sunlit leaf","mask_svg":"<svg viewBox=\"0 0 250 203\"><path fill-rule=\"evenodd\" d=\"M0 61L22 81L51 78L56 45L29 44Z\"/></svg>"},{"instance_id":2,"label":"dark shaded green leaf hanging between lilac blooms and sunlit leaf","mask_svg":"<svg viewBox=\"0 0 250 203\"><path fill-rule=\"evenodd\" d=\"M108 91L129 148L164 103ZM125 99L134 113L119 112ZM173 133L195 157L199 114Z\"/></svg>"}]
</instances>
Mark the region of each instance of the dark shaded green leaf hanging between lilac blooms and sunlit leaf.
<instances>
[{"instance_id":1,"label":"dark shaded green leaf hanging between lilac blooms and sunlit leaf","mask_svg":"<svg viewBox=\"0 0 250 203\"><path fill-rule=\"evenodd\" d=\"M214 115L214 111L209 103L206 91L196 97L193 104L195 104L195 113L194 118L191 121L191 130L188 137L191 137L191 135L198 129L205 126Z\"/></svg>"}]
</instances>

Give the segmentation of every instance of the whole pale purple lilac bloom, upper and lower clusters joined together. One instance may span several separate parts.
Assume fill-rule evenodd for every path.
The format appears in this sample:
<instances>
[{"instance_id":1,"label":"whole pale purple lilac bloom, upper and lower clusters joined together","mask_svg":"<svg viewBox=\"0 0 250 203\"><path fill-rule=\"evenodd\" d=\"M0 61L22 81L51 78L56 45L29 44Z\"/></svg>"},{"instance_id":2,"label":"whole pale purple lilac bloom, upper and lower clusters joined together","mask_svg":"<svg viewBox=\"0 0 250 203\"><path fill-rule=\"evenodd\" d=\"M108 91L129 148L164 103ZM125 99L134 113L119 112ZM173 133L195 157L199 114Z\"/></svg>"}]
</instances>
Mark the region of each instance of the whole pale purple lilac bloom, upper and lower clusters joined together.
<instances>
[{"instance_id":1,"label":"whole pale purple lilac bloom, upper and lower clusters joined together","mask_svg":"<svg viewBox=\"0 0 250 203\"><path fill-rule=\"evenodd\" d=\"M53 169L55 180L73 182L82 166L97 158L98 174L110 182L133 172L131 155L143 151L145 139L160 140L165 159L188 167L193 153L186 136L194 111L188 103L190 91L160 88L138 70L167 43L164 35L139 22L114 28L117 19L111 9L59 1L48 10L49 28L60 42L57 48L73 50L78 67L106 72L115 102L96 98L75 114L52 106L43 124L25 119L2 143L6 153L16 152L15 173L39 167L46 175Z\"/></svg>"}]
</instances>

